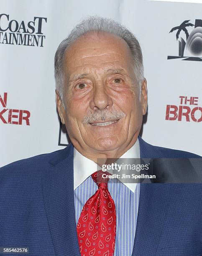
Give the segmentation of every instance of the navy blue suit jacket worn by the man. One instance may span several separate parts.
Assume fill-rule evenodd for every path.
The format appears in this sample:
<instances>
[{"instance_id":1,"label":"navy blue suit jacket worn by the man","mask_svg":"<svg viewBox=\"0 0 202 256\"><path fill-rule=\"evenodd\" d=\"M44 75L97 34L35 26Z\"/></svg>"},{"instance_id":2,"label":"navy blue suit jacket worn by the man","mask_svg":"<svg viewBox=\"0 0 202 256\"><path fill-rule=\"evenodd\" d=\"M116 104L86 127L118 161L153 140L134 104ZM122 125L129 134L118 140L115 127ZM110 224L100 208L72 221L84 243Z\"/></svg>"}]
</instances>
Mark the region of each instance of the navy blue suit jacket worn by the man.
<instances>
[{"instance_id":1,"label":"navy blue suit jacket worn by the man","mask_svg":"<svg viewBox=\"0 0 202 256\"><path fill-rule=\"evenodd\" d=\"M198 157L139 141L141 158ZM80 255L73 148L0 168L0 247L28 247L36 256ZM141 183L132 255L202 255L201 184Z\"/></svg>"}]
</instances>

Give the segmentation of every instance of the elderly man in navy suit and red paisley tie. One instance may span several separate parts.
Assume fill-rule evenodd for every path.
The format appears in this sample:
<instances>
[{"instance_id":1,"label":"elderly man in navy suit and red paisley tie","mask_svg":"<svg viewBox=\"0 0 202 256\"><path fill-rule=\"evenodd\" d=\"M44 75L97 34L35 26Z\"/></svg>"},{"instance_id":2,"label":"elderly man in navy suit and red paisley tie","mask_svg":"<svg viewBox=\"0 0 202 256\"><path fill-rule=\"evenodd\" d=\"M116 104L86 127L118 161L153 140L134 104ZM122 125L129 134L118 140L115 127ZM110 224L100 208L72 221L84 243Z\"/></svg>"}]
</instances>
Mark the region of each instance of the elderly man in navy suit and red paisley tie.
<instances>
[{"instance_id":1,"label":"elderly man in navy suit and red paisley tie","mask_svg":"<svg viewBox=\"0 0 202 256\"><path fill-rule=\"evenodd\" d=\"M1 168L0 247L37 256L201 255L200 184L98 180L110 159L198 157L139 137L147 83L135 36L113 20L83 20L56 51L55 77L72 143Z\"/></svg>"}]
</instances>

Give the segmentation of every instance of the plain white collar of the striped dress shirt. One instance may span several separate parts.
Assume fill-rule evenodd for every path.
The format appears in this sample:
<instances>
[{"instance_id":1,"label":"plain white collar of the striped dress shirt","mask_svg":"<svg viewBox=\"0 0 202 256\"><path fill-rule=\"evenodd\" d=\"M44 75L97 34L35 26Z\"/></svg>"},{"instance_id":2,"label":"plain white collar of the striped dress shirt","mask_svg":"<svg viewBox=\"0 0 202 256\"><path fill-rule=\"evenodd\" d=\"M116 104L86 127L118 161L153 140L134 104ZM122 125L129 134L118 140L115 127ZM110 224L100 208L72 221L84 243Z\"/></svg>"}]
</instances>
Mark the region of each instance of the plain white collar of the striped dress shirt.
<instances>
[{"instance_id":1,"label":"plain white collar of the striped dress shirt","mask_svg":"<svg viewBox=\"0 0 202 256\"><path fill-rule=\"evenodd\" d=\"M137 139L136 143L128 149L120 158L140 158L140 144ZM87 179L91 174L97 171L98 165L83 156L74 147L74 189L79 187L85 179ZM99 167L100 168L100 167ZM136 183L123 183L132 192L135 192Z\"/></svg>"}]
</instances>

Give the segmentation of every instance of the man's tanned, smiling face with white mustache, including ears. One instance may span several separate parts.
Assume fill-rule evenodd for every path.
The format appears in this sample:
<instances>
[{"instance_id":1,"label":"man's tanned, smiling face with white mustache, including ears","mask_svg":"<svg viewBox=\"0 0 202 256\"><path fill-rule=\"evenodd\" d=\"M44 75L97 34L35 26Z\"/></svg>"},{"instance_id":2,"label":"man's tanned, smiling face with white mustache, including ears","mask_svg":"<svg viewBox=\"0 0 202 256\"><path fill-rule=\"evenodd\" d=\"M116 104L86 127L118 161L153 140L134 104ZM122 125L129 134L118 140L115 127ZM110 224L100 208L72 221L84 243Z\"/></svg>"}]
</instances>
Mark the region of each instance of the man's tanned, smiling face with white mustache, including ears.
<instances>
[{"instance_id":1,"label":"man's tanned, smiling face with white mustache, including ears","mask_svg":"<svg viewBox=\"0 0 202 256\"><path fill-rule=\"evenodd\" d=\"M146 113L146 81L141 92L125 41L84 35L66 49L63 67L65 109L59 96L57 106L74 146L106 152L134 143Z\"/></svg>"}]
</instances>

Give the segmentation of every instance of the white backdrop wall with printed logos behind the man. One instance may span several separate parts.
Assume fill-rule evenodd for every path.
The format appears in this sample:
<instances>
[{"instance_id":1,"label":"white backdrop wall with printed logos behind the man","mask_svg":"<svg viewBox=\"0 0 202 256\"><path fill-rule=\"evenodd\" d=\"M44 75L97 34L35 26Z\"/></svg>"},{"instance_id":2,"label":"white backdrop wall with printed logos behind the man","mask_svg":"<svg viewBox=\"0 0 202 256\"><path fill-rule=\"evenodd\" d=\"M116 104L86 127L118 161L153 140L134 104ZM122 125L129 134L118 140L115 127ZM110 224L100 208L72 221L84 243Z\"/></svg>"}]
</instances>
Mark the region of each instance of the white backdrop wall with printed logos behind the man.
<instances>
[{"instance_id":1,"label":"white backdrop wall with printed logos behind the man","mask_svg":"<svg viewBox=\"0 0 202 256\"><path fill-rule=\"evenodd\" d=\"M87 15L140 41L148 143L202 155L202 4L147 0L0 0L0 166L68 143L55 103L54 54Z\"/></svg>"}]
</instances>

